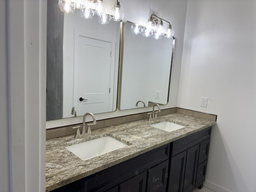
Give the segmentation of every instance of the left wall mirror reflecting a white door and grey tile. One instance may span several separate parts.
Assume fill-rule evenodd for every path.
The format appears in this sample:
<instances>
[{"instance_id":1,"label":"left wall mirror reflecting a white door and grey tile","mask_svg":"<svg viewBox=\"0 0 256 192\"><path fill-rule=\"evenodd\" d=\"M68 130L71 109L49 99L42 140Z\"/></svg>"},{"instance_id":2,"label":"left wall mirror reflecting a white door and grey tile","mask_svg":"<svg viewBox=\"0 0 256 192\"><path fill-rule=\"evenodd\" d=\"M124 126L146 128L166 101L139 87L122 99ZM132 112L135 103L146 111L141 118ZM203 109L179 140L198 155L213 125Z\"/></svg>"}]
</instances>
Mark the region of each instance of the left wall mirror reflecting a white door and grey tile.
<instances>
[{"instance_id":1,"label":"left wall mirror reflecting a white door and grey tile","mask_svg":"<svg viewBox=\"0 0 256 192\"><path fill-rule=\"evenodd\" d=\"M77 116L115 111L122 23L63 13L58 0L47 15L46 120L73 117L73 106Z\"/></svg>"}]
</instances>

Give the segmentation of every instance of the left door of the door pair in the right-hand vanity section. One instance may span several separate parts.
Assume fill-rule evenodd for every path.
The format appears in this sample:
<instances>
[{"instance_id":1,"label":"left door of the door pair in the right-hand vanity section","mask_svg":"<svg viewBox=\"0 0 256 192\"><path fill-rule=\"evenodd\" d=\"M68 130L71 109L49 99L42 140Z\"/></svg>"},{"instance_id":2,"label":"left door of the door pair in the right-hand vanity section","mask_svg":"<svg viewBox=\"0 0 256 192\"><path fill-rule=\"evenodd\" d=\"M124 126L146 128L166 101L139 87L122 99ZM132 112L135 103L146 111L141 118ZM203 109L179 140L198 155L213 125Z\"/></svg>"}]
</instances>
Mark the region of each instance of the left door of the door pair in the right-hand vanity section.
<instances>
[{"instance_id":1,"label":"left door of the door pair in the right-hand vanity section","mask_svg":"<svg viewBox=\"0 0 256 192\"><path fill-rule=\"evenodd\" d=\"M187 151L173 156L170 160L168 192L182 192Z\"/></svg>"}]
</instances>

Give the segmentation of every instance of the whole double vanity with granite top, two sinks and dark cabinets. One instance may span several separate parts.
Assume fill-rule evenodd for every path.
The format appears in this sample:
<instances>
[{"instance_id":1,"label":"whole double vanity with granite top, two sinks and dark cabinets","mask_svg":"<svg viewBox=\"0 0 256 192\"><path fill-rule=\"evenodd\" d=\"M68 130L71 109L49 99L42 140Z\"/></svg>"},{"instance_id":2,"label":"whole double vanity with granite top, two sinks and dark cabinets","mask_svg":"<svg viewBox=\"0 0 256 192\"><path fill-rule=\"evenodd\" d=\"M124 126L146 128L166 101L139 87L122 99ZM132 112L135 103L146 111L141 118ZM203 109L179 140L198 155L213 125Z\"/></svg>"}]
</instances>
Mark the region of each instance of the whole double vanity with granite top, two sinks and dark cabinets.
<instances>
[{"instance_id":1,"label":"whole double vanity with granite top, two sinks and dark cabinets","mask_svg":"<svg viewBox=\"0 0 256 192\"><path fill-rule=\"evenodd\" d=\"M211 126L174 113L46 141L46 192L193 191L206 174Z\"/></svg>"}]
</instances>

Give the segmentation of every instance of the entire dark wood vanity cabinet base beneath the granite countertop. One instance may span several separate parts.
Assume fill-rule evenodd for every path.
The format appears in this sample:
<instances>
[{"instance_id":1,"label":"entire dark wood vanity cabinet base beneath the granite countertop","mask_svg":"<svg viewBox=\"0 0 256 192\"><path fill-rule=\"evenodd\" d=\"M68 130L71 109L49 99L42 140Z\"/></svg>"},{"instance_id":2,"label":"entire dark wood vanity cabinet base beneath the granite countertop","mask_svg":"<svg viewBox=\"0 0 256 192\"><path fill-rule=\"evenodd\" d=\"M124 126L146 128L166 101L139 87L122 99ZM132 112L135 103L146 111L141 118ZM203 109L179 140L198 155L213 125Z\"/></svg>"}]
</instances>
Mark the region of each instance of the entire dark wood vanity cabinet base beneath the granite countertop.
<instances>
[{"instance_id":1,"label":"entire dark wood vanity cabinet base beneath the granite countertop","mask_svg":"<svg viewBox=\"0 0 256 192\"><path fill-rule=\"evenodd\" d=\"M205 180L210 134L205 128L54 192L192 192Z\"/></svg>"}]
</instances>

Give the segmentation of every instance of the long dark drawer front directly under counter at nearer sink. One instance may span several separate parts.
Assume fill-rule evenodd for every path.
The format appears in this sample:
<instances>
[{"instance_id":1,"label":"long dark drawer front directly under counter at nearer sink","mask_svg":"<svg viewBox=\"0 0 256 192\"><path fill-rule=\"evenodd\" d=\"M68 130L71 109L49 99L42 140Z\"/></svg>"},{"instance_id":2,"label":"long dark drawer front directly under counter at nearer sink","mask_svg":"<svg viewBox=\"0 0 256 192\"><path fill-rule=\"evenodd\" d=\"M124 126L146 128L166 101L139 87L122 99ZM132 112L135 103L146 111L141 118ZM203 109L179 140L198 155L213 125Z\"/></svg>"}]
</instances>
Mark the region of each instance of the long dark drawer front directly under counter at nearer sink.
<instances>
[{"instance_id":1,"label":"long dark drawer front directly under counter at nearer sink","mask_svg":"<svg viewBox=\"0 0 256 192\"><path fill-rule=\"evenodd\" d=\"M168 160L170 144L158 147L130 160L102 170L81 180L81 192L102 192Z\"/></svg>"}]
</instances>

